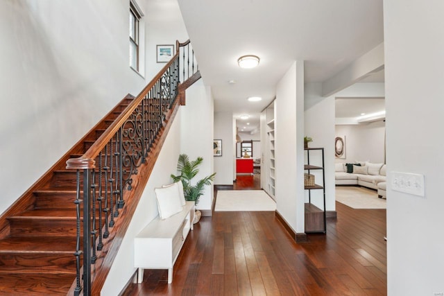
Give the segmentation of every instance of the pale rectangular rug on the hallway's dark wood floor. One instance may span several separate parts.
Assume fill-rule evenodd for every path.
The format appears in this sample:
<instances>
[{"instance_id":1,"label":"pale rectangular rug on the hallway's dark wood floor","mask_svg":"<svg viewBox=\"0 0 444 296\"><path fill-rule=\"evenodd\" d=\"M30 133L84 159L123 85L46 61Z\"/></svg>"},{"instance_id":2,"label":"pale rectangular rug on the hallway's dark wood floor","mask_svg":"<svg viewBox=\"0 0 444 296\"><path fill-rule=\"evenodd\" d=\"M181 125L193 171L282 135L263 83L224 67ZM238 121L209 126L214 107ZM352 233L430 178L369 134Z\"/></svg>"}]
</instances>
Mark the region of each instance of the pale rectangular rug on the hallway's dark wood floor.
<instances>
[{"instance_id":1,"label":"pale rectangular rug on the hallway's dark wood floor","mask_svg":"<svg viewBox=\"0 0 444 296\"><path fill-rule=\"evenodd\" d=\"M276 203L263 190L219 190L214 211L275 211Z\"/></svg>"}]
</instances>

